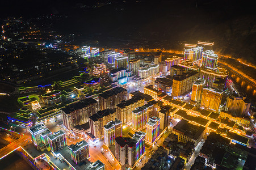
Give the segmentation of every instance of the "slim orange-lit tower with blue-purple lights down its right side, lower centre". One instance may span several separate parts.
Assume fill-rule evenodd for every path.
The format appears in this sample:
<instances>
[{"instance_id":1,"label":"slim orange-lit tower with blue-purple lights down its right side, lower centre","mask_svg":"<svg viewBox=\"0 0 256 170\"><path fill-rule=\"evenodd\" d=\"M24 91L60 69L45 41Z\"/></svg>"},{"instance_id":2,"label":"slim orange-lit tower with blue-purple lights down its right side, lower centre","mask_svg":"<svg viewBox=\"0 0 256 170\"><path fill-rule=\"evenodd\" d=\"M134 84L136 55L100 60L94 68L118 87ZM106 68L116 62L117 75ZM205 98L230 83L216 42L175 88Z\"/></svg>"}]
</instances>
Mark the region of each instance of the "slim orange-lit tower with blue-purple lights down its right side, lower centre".
<instances>
[{"instance_id":1,"label":"slim orange-lit tower with blue-purple lights down its right side, lower centre","mask_svg":"<svg viewBox=\"0 0 256 170\"><path fill-rule=\"evenodd\" d=\"M150 117L146 123L146 141L154 143L160 135L160 118Z\"/></svg>"}]
</instances>

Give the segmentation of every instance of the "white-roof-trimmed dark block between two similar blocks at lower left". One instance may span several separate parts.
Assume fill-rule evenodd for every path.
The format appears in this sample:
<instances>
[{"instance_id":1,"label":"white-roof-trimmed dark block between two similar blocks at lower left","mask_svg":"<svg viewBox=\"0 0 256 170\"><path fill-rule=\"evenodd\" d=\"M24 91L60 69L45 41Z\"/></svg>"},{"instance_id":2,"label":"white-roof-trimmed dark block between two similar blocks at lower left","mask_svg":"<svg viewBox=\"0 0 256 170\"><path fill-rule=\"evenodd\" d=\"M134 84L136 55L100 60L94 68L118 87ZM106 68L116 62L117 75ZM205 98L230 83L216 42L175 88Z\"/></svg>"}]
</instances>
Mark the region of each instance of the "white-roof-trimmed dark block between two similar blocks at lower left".
<instances>
[{"instance_id":1,"label":"white-roof-trimmed dark block between two similar blocks at lower left","mask_svg":"<svg viewBox=\"0 0 256 170\"><path fill-rule=\"evenodd\" d=\"M52 133L47 138L52 152L58 151L66 146L66 135L62 130Z\"/></svg>"}]
</instances>

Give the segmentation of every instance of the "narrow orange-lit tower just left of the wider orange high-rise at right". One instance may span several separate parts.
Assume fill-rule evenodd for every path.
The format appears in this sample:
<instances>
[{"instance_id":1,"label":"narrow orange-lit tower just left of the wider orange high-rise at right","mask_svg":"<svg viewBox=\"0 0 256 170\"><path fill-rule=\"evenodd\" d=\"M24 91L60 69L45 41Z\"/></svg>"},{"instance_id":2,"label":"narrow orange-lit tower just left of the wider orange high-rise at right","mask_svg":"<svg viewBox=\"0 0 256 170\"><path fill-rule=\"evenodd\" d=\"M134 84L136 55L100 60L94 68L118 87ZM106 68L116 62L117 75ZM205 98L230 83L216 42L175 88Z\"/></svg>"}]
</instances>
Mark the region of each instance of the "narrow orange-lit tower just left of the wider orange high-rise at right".
<instances>
[{"instance_id":1,"label":"narrow orange-lit tower just left of the wider orange high-rise at right","mask_svg":"<svg viewBox=\"0 0 256 170\"><path fill-rule=\"evenodd\" d=\"M195 102L200 102L203 95L205 80L201 78L196 78L195 82L192 85L192 94L191 100Z\"/></svg>"}]
</instances>

